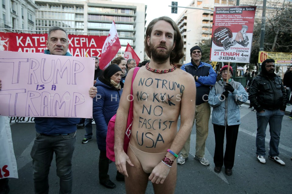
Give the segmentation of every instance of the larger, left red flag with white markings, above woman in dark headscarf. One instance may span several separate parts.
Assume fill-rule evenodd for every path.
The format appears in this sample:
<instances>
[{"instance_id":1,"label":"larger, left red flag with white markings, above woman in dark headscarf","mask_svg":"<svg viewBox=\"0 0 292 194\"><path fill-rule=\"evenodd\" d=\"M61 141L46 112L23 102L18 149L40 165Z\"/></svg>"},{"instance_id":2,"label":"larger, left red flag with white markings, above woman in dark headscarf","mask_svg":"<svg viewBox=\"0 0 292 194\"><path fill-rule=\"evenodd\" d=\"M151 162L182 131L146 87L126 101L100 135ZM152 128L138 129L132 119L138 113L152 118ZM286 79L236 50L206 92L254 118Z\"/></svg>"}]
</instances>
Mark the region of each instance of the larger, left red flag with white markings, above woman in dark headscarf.
<instances>
[{"instance_id":1,"label":"larger, left red flag with white markings, above woman in dark headscarf","mask_svg":"<svg viewBox=\"0 0 292 194\"><path fill-rule=\"evenodd\" d=\"M103 44L103 49L101 52L101 57L99 60L99 68L105 69L109 62L116 56L116 53L121 48L120 39L118 32L116 31L116 25L113 21L112 26L109 30L109 35Z\"/></svg>"}]
</instances>

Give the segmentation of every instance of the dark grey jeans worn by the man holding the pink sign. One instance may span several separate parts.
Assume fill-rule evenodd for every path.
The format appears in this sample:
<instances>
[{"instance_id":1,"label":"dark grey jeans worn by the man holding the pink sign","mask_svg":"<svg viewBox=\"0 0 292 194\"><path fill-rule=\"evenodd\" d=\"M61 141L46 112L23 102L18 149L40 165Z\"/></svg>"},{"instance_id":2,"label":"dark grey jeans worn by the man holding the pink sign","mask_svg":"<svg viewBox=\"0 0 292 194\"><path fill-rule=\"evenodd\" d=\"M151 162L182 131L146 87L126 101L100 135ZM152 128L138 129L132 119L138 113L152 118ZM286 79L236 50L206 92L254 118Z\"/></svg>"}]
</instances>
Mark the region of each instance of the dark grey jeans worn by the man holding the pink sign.
<instances>
[{"instance_id":1,"label":"dark grey jeans worn by the man holding the pink sign","mask_svg":"<svg viewBox=\"0 0 292 194\"><path fill-rule=\"evenodd\" d=\"M30 152L33 159L33 182L36 194L49 193L48 175L54 153L57 176L60 178L59 194L72 193L72 156L75 141L76 132L50 136L36 133Z\"/></svg>"}]
</instances>

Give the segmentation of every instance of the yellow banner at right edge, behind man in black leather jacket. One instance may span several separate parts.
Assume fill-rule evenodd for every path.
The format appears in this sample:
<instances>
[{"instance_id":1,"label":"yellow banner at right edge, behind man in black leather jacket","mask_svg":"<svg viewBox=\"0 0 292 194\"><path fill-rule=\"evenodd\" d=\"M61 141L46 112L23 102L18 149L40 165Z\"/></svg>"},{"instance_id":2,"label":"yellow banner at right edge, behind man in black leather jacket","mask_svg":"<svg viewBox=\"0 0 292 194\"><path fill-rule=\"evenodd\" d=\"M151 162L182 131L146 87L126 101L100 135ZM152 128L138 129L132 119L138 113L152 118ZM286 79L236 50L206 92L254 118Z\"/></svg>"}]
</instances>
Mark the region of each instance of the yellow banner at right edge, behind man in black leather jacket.
<instances>
[{"instance_id":1,"label":"yellow banner at right edge, behind man in black leather jacket","mask_svg":"<svg viewBox=\"0 0 292 194\"><path fill-rule=\"evenodd\" d=\"M288 52L259 52L259 63L266 59L274 59L275 64L290 64L292 63L292 53Z\"/></svg>"}]
</instances>

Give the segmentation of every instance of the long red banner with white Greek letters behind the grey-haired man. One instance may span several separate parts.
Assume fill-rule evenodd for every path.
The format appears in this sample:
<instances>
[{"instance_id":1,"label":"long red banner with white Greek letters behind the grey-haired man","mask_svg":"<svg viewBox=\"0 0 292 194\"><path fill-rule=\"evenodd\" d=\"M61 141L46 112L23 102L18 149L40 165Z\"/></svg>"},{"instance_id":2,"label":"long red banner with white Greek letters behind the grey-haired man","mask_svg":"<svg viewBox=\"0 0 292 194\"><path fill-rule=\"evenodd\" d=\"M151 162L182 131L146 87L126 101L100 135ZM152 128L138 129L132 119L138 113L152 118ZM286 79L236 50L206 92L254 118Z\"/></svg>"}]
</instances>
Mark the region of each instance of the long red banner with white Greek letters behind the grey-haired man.
<instances>
[{"instance_id":1,"label":"long red banner with white Greek letters behind the grey-haired man","mask_svg":"<svg viewBox=\"0 0 292 194\"><path fill-rule=\"evenodd\" d=\"M0 51L43 53L47 34L0 32ZM107 36L68 35L68 52L75 57L100 57Z\"/></svg>"}]
</instances>

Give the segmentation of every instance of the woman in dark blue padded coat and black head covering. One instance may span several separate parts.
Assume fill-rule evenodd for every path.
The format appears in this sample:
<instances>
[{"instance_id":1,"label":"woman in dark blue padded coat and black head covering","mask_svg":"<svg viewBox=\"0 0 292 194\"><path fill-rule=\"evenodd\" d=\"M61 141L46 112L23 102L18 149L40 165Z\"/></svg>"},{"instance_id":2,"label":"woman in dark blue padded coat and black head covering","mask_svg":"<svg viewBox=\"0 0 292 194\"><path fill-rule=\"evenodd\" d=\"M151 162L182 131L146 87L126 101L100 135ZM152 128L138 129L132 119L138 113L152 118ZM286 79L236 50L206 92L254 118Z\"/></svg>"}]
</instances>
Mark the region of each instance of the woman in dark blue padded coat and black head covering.
<instances>
[{"instance_id":1,"label":"woman in dark blue padded coat and black head covering","mask_svg":"<svg viewBox=\"0 0 292 194\"><path fill-rule=\"evenodd\" d=\"M109 159L106 157L106 133L109 120L116 114L122 94L120 82L122 70L116 64L109 65L96 80L97 94L93 99L93 118L96 123L96 140L99 154L99 183L106 188L113 189L116 185L109 180ZM124 176L117 172L116 179L124 180Z\"/></svg>"}]
</instances>

